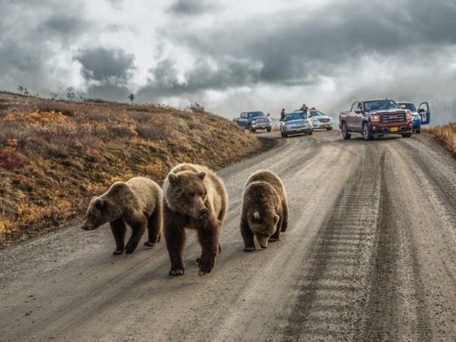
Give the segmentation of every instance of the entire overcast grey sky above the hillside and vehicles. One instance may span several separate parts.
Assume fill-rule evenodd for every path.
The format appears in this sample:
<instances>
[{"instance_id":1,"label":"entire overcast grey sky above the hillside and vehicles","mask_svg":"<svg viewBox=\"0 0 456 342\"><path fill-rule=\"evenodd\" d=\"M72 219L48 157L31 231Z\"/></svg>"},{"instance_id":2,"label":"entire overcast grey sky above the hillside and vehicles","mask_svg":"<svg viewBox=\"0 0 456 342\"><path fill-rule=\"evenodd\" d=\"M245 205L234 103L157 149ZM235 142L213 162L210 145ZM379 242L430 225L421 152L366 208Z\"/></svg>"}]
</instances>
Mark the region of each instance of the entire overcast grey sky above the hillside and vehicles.
<instances>
[{"instance_id":1,"label":"entire overcast grey sky above the hillside and vehicles","mask_svg":"<svg viewBox=\"0 0 456 342\"><path fill-rule=\"evenodd\" d=\"M0 0L0 90L279 116L358 98L456 121L455 0Z\"/></svg>"}]
</instances>

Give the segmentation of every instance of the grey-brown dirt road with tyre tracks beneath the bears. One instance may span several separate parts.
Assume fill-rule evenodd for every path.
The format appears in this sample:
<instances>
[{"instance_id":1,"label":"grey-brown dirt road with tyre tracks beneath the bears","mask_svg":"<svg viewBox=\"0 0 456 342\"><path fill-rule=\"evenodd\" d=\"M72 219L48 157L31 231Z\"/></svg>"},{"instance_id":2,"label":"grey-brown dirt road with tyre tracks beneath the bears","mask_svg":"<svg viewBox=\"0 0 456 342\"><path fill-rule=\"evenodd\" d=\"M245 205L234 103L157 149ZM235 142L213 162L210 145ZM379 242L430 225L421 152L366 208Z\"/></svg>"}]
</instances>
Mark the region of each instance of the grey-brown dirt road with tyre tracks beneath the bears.
<instances>
[{"instance_id":1,"label":"grey-brown dirt road with tyre tracks beneath the bears","mask_svg":"<svg viewBox=\"0 0 456 342\"><path fill-rule=\"evenodd\" d=\"M0 341L456 341L456 160L430 135L274 138L218 170L229 193L222 253L168 276L165 243L113 256L107 226L66 227L0 251ZM360 136L361 137L361 136ZM289 229L243 251L244 182L288 192Z\"/></svg>"}]
</instances>

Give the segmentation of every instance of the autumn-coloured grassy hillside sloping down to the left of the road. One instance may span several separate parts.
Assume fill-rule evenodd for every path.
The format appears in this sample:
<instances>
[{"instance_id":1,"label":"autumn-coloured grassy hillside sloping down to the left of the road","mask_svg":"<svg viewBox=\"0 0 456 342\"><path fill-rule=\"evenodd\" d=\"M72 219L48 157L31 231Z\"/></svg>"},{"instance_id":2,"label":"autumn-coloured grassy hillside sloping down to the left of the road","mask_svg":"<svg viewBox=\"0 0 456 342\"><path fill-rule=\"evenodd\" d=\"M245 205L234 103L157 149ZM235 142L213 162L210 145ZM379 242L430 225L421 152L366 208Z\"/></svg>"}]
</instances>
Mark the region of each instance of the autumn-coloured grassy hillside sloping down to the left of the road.
<instances>
[{"instance_id":1,"label":"autumn-coloured grassy hillside sloping down to the left of the road","mask_svg":"<svg viewBox=\"0 0 456 342\"><path fill-rule=\"evenodd\" d=\"M260 149L257 135L199 105L0 93L0 248L81 219L117 180L161 185L179 162L217 169Z\"/></svg>"}]
</instances>

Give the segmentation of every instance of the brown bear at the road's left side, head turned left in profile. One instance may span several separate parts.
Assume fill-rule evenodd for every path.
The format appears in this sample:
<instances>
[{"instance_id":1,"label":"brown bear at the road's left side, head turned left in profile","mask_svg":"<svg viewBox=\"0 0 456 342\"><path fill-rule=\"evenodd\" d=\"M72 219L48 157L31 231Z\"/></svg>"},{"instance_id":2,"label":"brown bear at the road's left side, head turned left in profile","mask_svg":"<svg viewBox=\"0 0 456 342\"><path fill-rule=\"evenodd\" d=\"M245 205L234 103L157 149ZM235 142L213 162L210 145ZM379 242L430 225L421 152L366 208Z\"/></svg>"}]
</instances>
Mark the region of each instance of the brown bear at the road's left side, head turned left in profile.
<instances>
[{"instance_id":1,"label":"brown bear at the road's left side, head turned left in profile","mask_svg":"<svg viewBox=\"0 0 456 342\"><path fill-rule=\"evenodd\" d=\"M146 227L149 237L145 246L153 247L160 241L162 229L162 189L146 177L115 182L103 195L92 197L83 220L84 230L109 222L116 245L114 255L133 253ZM132 234L125 246L126 224Z\"/></svg>"}]
</instances>

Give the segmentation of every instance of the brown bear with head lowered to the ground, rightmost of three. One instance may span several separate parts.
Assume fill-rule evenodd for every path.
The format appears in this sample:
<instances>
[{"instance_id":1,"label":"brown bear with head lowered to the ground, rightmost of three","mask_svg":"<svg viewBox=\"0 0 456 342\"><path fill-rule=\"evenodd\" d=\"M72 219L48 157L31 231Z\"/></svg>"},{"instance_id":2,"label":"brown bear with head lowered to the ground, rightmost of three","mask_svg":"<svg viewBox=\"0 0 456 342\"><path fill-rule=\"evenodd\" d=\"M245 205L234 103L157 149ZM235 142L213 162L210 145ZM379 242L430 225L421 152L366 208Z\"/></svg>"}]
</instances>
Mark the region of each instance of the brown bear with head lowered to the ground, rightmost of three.
<instances>
[{"instance_id":1,"label":"brown bear with head lowered to the ground, rightmost of three","mask_svg":"<svg viewBox=\"0 0 456 342\"><path fill-rule=\"evenodd\" d=\"M278 241L280 232L288 226L288 204L285 187L280 178L269 170L250 175L242 195L240 229L244 251L255 250L254 236L261 248L268 241Z\"/></svg>"}]
</instances>

